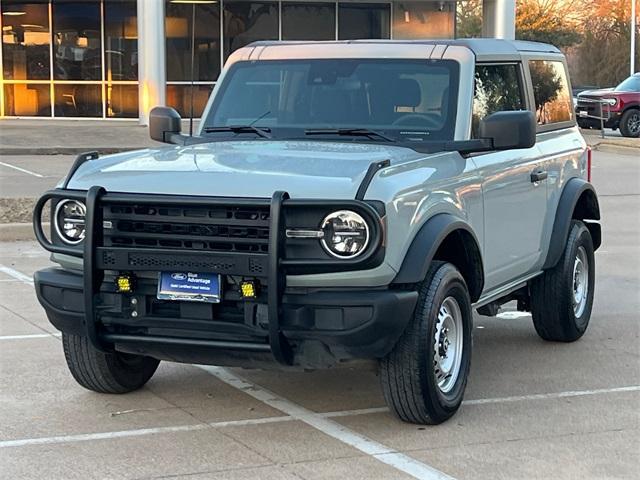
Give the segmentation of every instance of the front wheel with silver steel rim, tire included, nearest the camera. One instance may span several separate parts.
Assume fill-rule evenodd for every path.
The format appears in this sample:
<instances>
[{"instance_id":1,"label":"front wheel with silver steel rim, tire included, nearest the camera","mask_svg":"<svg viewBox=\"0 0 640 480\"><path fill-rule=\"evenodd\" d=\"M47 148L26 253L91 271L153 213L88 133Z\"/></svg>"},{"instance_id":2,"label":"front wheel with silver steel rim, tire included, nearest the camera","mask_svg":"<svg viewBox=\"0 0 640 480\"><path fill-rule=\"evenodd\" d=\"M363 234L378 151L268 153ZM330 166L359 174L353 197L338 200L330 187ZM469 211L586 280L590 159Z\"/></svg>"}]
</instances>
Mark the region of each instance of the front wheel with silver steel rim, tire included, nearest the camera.
<instances>
[{"instance_id":1,"label":"front wheel with silver steel rim, tire included, nearest the camera","mask_svg":"<svg viewBox=\"0 0 640 480\"><path fill-rule=\"evenodd\" d=\"M460 272L434 262L414 318L380 362L382 390L405 422L435 425L462 403L471 363L471 300Z\"/></svg>"}]
</instances>

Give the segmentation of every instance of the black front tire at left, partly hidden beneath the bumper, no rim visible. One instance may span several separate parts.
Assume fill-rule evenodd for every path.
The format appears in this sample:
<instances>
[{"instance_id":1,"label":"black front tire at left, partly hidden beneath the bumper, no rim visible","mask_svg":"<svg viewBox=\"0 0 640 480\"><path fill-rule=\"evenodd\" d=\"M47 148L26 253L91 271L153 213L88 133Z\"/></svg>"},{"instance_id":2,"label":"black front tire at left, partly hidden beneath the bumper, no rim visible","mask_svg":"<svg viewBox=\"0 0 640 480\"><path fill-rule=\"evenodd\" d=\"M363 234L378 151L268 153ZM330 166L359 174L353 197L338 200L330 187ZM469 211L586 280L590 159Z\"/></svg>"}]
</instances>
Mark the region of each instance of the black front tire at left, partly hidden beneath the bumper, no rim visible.
<instances>
[{"instance_id":1,"label":"black front tire at left, partly hidden beneath the bumper, no rim visible","mask_svg":"<svg viewBox=\"0 0 640 480\"><path fill-rule=\"evenodd\" d=\"M76 382L98 393L128 393L153 376L159 360L128 353L103 353L86 337L62 334L67 366Z\"/></svg>"}]
</instances>

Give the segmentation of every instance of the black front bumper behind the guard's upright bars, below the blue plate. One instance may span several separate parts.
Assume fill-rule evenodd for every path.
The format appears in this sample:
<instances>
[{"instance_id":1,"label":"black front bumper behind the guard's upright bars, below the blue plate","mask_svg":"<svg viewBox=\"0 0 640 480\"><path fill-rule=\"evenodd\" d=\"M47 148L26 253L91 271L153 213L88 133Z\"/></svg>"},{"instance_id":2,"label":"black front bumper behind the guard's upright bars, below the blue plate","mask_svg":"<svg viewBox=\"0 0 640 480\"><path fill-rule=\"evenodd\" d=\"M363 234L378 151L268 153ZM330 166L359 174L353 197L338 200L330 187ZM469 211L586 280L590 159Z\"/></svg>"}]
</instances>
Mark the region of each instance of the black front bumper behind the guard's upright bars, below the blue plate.
<instances>
[{"instance_id":1,"label":"black front bumper behind the guard's upright bars, below the blue plate","mask_svg":"<svg viewBox=\"0 0 640 480\"><path fill-rule=\"evenodd\" d=\"M93 331L105 349L172 361L273 363L266 304L244 302L242 314L233 315L222 305L160 302L153 279L142 281L135 294L116 293L105 282L94 298L95 319L87 325L84 280L59 268L36 273L38 300L58 330L82 336ZM286 290L277 324L291 348L289 364L321 368L383 357L411 319L417 298L415 291L389 289Z\"/></svg>"}]
</instances>

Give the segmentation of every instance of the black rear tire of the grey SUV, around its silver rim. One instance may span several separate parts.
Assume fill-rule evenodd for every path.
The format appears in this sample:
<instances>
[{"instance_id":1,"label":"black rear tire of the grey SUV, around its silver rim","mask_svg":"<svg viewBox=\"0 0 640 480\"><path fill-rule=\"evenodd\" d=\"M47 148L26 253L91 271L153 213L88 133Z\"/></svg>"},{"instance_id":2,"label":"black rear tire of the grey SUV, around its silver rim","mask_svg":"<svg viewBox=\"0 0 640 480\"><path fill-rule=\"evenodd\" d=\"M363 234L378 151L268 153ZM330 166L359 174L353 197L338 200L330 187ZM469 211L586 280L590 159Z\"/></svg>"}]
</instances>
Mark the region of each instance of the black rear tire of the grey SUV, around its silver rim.
<instances>
[{"instance_id":1,"label":"black rear tire of the grey SUV, around its silver rim","mask_svg":"<svg viewBox=\"0 0 640 480\"><path fill-rule=\"evenodd\" d=\"M576 315L574 309L575 263L582 248L588 262L586 304ZM544 340L574 342L589 325L595 286L593 241L589 229L573 220L569 237L558 264L531 282L531 316L536 332Z\"/></svg>"}]
</instances>

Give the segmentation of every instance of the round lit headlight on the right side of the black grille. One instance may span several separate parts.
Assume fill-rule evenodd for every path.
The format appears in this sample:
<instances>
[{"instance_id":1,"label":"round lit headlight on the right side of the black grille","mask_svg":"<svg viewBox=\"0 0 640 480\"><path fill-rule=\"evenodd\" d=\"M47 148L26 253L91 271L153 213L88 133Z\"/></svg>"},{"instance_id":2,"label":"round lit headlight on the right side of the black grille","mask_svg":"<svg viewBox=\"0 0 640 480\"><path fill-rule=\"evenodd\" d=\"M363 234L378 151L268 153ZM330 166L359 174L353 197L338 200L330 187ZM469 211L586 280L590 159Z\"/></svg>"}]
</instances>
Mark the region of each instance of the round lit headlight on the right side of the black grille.
<instances>
[{"instance_id":1,"label":"round lit headlight on the right side of the black grille","mask_svg":"<svg viewBox=\"0 0 640 480\"><path fill-rule=\"evenodd\" d=\"M322 246L334 257L355 258L369 244L367 222L351 210L338 210L327 215L321 225L324 235Z\"/></svg>"}]
</instances>

